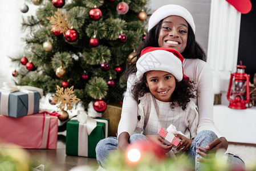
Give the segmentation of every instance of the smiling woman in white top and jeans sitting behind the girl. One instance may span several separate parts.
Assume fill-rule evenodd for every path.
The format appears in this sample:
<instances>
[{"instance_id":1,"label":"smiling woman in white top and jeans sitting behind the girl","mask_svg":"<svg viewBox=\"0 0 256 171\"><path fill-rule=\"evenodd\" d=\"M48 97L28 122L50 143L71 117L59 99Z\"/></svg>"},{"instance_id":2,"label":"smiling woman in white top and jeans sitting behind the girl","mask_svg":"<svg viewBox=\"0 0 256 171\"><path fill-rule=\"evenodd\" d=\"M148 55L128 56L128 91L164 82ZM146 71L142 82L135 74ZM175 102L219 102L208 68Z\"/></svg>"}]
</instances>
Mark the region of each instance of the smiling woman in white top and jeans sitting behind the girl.
<instances>
[{"instance_id":1,"label":"smiling woman in white top and jeans sitting behind the girl","mask_svg":"<svg viewBox=\"0 0 256 171\"><path fill-rule=\"evenodd\" d=\"M184 7L178 5L165 5L157 9L149 19L148 34L145 41L137 49L137 55L134 57L137 61L141 54L141 50L145 47L169 47L177 50L184 57L182 64L184 74L194 82L196 89L196 99L190 99L198 105L199 123L197 127L197 139L204 143L197 145L195 149L196 165L203 157L207 158L210 152L223 148L227 149L227 140L221 135L213 123L213 86L212 86L212 71L206 63L206 55L200 45L195 40L196 27L193 17ZM131 59L132 61L132 59ZM157 60L156 60L157 61ZM156 62L155 61L155 62ZM128 62L129 63L129 62ZM149 64L154 64L154 61L149 61ZM137 109L138 104L132 97L131 87L136 82L135 73L136 62L127 66L125 72L127 81L127 92L123 101L121 120L118 127L118 141L116 137L111 137L101 141L96 148L97 160L103 162L103 158L108 154L109 149L122 150L129 143L141 139L141 137L132 136L137 124ZM144 138L144 137L143 137ZM151 141L162 144L162 139L157 135L147 136ZM100 150L108 141L109 146L105 146L108 150L105 152ZM117 144L118 143L118 144ZM162 145L165 151L171 149L170 146ZM233 156L229 156L229 160L233 160ZM239 159L240 164L243 161Z\"/></svg>"}]
</instances>

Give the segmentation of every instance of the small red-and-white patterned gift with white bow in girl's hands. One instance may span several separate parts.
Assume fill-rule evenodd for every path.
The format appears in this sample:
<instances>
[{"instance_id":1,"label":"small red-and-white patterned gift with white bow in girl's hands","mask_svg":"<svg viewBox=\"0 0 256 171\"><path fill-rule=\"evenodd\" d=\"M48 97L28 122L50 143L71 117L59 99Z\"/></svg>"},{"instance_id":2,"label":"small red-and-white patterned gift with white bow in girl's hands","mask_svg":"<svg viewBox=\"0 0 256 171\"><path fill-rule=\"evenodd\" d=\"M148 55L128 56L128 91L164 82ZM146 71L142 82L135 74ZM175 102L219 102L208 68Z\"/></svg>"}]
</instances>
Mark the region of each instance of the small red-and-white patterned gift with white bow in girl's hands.
<instances>
[{"instance_id":1,"label":"small red-and-white patterned gift with white bow in girl's hands","mask_svg":"<svg viewBox=\"0 0 256 171\"><path fill-rule=\"evenodd\" d=\"M182 134L180 131L176 130L176 127L172 124L166 129L160 128L157 135L160 135L164 140L164 143L167 145L178 146L180 144L181 139L175 136L175 134ZM182 134L183 135L183 134Z\"/></svg>"}]
</instances>

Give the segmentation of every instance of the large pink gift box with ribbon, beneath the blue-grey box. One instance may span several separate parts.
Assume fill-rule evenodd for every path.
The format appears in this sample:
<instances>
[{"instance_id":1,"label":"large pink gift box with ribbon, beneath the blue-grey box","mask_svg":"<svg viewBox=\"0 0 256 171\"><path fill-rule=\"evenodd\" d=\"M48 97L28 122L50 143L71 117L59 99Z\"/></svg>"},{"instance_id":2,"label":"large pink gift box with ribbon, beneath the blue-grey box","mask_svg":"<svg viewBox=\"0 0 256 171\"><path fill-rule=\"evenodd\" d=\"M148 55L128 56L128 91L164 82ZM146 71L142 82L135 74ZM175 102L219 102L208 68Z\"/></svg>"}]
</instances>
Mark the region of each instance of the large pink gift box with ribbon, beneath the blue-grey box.
<instances>
[{"instance_id":1,"label":"large pink gift box with ribbon, beneath the blue-grey box","mask_svg":"<svg viewBox=\"0 0 256 171\"><path fill-rule=\"evenodd\" d=\"M46 113L14 118L0 115L0 141L21 148L56 149L58 117Z\"/></svg>"}]
</instances>

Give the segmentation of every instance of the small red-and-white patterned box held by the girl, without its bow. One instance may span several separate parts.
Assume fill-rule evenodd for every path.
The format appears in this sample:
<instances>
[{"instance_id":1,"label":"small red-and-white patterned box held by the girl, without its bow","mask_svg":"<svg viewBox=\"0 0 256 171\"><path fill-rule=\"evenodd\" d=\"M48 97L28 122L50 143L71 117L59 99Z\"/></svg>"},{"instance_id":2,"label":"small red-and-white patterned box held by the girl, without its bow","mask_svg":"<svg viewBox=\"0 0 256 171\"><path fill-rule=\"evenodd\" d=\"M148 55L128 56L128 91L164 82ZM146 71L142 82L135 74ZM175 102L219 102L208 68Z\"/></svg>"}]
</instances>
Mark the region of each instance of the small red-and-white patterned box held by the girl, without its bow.
<instances>
[{"instance_id":1,"label":"small red-and-white patterned box held by the girl, without its bow","mask_svg":"<svg viewBox=\"0 0 256 171\"><path fill-rule=\"evenodd\" d=\"M168 144L168 145L173 144L174 146L178 146L178 144L180 144L180 141L181 141L181 139L174 136L173 133L168 132L166 129L163 129L163 128L160 128L157 135L160 135L163 139L165 139L165 144Z\"/></svg>"}]
</instances>

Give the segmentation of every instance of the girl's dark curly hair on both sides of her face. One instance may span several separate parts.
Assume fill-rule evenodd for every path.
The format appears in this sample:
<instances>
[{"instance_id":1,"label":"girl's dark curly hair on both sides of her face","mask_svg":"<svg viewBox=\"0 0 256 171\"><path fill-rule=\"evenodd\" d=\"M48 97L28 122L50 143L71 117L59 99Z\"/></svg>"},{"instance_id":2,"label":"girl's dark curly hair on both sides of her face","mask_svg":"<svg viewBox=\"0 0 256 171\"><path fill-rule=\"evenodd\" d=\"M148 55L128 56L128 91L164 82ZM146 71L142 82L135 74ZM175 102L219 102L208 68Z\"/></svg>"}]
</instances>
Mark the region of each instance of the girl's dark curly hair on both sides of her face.
<instances>
[{"instance_id":1,"label":"girl's dark curly hair on both sides of her face","mask_svg":"<svg viewBox=\"0 0 256 171\"><path fill-rule=\"evenodd\" d=\"M149 88L146 86L147 78L146 73L144 73L143 78L136 82L132 86L132 95L133 99L136 101L139 100L140 97L143 97L145 93L150 92ZM170 108L174 108L177 106L180 106L182 110L185 111L190 98L196 98L196 95L194 95L194 86L193 82L190 82L187 79L182 79L180 82L178 82L175 79L176 87L172 93L172 98L170 99Z\"/></svg>"}]
</instances>

